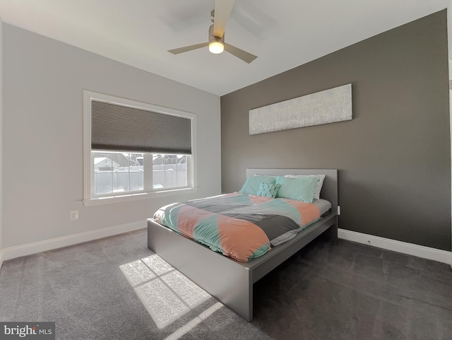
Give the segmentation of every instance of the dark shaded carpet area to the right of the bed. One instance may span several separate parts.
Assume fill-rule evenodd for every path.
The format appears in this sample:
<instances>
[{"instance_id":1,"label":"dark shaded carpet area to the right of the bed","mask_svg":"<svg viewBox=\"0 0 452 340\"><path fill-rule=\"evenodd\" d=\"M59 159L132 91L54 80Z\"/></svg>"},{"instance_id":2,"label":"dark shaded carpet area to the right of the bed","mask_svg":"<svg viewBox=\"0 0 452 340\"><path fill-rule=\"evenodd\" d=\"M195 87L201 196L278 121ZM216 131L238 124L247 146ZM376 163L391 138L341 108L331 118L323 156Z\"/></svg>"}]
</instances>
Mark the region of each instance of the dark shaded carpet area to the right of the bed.
<instances>
[{"instance_id":1,"label":"dark shaded carpet area to the right of the bed","mask_svg":"<svg viewBox=\"0 0 452 340\"><path fill-rule=\"evenodd\" d=\"M448 264L319 238L254 286L274 339L452 339Z\"/></svg>"}]
</instances>

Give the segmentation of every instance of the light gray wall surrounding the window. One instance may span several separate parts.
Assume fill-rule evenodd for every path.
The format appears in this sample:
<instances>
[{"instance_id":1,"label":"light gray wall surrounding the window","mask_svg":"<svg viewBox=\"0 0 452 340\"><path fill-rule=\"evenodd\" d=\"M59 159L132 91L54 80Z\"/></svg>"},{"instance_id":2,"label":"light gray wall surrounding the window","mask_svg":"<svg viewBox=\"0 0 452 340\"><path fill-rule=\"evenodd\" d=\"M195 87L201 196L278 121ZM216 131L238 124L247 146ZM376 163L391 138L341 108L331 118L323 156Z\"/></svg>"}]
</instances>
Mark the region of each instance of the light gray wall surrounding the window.
<instances>
[{"instance_id":1,"label":"light gray wall surrounding the window","mask_svg":"<svg viewBox=\"0 0 452 340\"><path fill-rule=\"evenodd\" d=\"M144 228L160 206L220 194L218 95L12 25L3 33L5 258L44 240ZM198 191L83 206L83 89L196 114Z\"/></svg>"}]
</instances>

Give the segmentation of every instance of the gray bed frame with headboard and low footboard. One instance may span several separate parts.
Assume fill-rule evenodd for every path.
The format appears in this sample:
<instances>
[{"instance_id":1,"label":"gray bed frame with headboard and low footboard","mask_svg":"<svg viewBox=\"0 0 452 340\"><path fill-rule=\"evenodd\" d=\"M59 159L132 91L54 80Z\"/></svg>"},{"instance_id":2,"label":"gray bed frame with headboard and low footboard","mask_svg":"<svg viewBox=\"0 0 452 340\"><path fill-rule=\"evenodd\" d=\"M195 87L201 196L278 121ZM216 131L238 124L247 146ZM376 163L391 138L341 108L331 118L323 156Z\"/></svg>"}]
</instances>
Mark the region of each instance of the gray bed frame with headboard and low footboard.
<instances>
[{"instance_id":1,"label":"gray bed frame with headboard and low footboard","mask_svg":"<svg viewBox=\"0 0 452 340\"><path fill-rule=\"evenodd\" d=\"M220 300L243 317L253 319L253 284L298 252L321 233L329 230L338 236L338 170L331 169L247 169L246 177L253 175L314 175L326 178L321 198L331 202L331 213L309 225L292 240L273 247L261 257L249 262L238 262L213 252L210 248L174 233L148 220L148 247L191 281Z\"/></svg>"}]
</instances>

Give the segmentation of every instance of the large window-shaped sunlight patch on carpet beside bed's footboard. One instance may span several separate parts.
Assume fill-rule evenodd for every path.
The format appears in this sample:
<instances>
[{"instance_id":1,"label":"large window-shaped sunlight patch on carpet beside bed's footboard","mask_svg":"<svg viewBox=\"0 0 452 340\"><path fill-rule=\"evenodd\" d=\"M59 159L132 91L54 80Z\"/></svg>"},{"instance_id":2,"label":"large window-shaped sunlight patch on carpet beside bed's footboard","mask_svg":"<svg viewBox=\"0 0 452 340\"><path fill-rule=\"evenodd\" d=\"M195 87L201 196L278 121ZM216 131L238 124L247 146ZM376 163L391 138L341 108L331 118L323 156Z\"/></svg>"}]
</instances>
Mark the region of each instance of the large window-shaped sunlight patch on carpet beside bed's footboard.
<instances>
[{"instance_id":1,"label":"large window-shaped sunlight patch on carpet beside bed's footboard","mask_svg":"<svg viewBox=\"0 0 452 340\"><path fill-rule=\"evenodd\" d=\"M119 268L160 329L210 298L206 291L156 254Z\"/></svg>"}]
</instances>

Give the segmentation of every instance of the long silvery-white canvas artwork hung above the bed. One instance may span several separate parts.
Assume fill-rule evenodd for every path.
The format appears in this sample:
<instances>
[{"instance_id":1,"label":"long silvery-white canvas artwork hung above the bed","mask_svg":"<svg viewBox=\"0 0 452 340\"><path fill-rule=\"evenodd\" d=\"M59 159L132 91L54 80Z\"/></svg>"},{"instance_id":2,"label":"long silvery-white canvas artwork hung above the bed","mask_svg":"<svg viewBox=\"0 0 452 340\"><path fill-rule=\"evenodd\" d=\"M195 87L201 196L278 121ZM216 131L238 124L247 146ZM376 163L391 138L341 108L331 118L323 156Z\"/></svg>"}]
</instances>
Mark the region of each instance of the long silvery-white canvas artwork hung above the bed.
<instances>
[{"instance_id":1,"label":"long silvery-white canvas artwork hung above the bed","mask_svg":"<svg viewBox=\"0 0 452 340\"><path fill-rule=\"evenodd\" d=\"M309 127L352 119L352 84L249 111L249 134Z\"/></svg>"}]
</instances>

